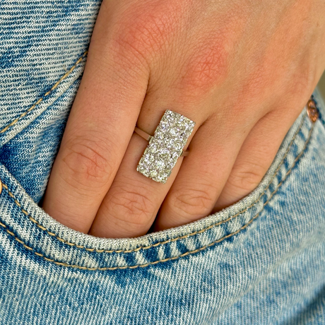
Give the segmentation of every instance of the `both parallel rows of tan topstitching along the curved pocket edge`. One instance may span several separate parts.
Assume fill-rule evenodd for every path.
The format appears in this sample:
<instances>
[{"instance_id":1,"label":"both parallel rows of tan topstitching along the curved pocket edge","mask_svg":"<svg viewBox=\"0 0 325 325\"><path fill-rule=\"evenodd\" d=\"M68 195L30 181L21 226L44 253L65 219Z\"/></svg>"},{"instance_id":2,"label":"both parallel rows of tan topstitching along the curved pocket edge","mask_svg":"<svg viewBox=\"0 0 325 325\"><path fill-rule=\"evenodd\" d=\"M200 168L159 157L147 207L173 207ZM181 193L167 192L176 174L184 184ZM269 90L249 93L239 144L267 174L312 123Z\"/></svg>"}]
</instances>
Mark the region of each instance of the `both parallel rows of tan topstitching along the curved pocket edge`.
<instances>
[{"instance_id":1,"label":"both parallel rows of tan topstitching along the curved pocket edge","mask_svg":"<svg viewBox=\"0 0 325 325\"><path fill-rule=\"evenodd\" d=\"M280 169L280 165L283 164L283 161L285 159L285 156L288 154L288 150L290 148L290 146L292 145L294 139L296 138L297 134L299 133L300 129L302 128L302 124L303 122L305 121L305 118L307 117L307 114L304 115L303 119L302 119L302 122L300 124L300 127L297 129L297 131L295 132L295 136L293 137L293 139L290 141L290 144L285 152L285 155L283 157L283 159L281 160L278 168L276 169L276 171L274 172L273 176L271 177L271 181L270 183L268 184L268 187L271 185L271 182L273 181L274 177L276 177L276 173L278 172L278 170ZM290 172L293 170L293 167L295 167L297 161L300 159L300 157L302 156L302 154L305 152L305 149L307 148L307 144L309 143L309 140L312 136L312 131L314 130L314 123L312 124L312 127L310 128L309 130L309 134L307 136L307 140L305 141L305 145L304 147L302 148L302 150L300 151L300 153L297 155L297 157L295 158L294 162L293 162L293 165L289 168L289 170L285 173L285 176L283 177L283 179L279 182L279 184L277 185L276 189L274 189L274 191L271 193L271 195L268 197L268 199L266 200L266 202L264 203L263 207L266 206L266 204L272 199L273 195L276 194L276 191L278 191L278 189L280 188L280 186L283 184L283 182L285 181L285 179L288 177L288 175L290 174ZM20 203L15 199L15 197L13 196L13 194L8 191L8 187L6 186L6 184L3 184L3 187L4 189L6 189L6 191L8 192L9 196L11 196L11 198L15 201L15 203L20 207L20 209L23 211L23 213L27 213L27 211L23 210L23 208L21 207ZM267 188L268 188L267 187ZM266 188L266 189L267 189ZM265 193L266 189L263 191L263 193L259 196L259 198L256 200L258 201L261 196ZM254 203L256 203L256 201ZM251 206L247 207L244 209L244 211L246 211L248 208L252 207L254 205L254 203L252 203ZM240 213L243 213L244 211L241 211ZM261 210L263 211L263 210ZM83 269L83 270L89 270L89 271L115 271L115 270L122 270L122 269L126 269L126 268L138 268L138 267L146 267L146 266L150 266L150 265L154 265L154 264L158 264L158 263L163 263L165 261L172 261L172 260L175 260L175 259L179 259L179 258L182 258L184 256L187 256L189 254L195 254L197 252L201 252L203 251L204 249L207 249L208 247L211 247L211 246L214 246L215 244L218 244L219 242L222 242L223 240L226 240L227 238L229 237L232 237L234 235L237 235L239 232L241 232L242 230L246 229L254 220L256 220L256 218L258 218L259 214L261 213L261 211L259 211L258 213L256 213L256 215L254 215L252 217L251 220L249 220L246 224L244 224L240 229L236 230L235 232L232 232L228 235L225 235L224 237L218 239L218 240L215 240L213 242L211 242L210 244L207 244L203 247L200 247L199 249L195 249L193 251L188 251L188 252L185 252L183 254L180 254L179 256L173 256L173 257L168 257L166 259L161 259L161 260L158 260L158 261L153 261L153 262L149 262L149 263L146 263L146 264L137 264L137 265L133 265L133 266L115 266L115 267L97 267L97 268L89 268L87 266L79 266L79 265L75 265L75 264L67 264L67 263L64 263L64 262L60 262L60 261L55 261L54 259L49 259L48 257L44 256L43 254L40 254L38 252L35 252L35 250L32 248L32 247L29 247L28 245L26 245L22 240L20 240L18 237L16 237L16 235L11 232L10 230L8 230L8 228L6 227L6 225L4 225L4 223L1 223L0 222L0 226L2 228L4 228L6 230L6 232L8 232L9 235L13 236L15 238L15 240L17 242L19 242L20 244L23 244L23 247L25 247L26 249L32 251L35 255L37 256L40 256L42 257L43 259L45 259L46 261L50 261L54 264L57 264L59 266L66 266L66 267L72 267L72 268L79 268L79 269ZM237 213L236 215L233 215L231 216L230 218L228 218L227 220L223 220L223 221L220 221L220 223L216 223L215 225L220 225L221 223L225 223L227 222L228 220L231 220L232 218L235 218L235 216L239 215L240 213ZM28 214L27 214L28 215ZM30 216L28 215L28 217L30 218ZM36 220L35 220L36 221ZM208 228L205 228L203 230L199 230L197 232L192 232L191 234L188 234L188 235L184 235L182 237L177 237L175 238L174 240L168 240L166 242L172 242L172 241L175 241L175 240L179 240L179 239L182 239L182 238L186 238L186 237L189 237L193 234L198 234L198 233L201 233L203 231L206 231L208 229L211 229L213 226L215 225L211 225L209 226ZM37 226L39 226L39 224L37 224ZM42 226L42 228L44 228L46 230L45 227ZM41 228L41 229L42 229ZM46 230L47 231L47 230ZM53 233L51 233L53 234ZM53 234L55 235L55 234ZM165 242L165 243L166 243ZM67 244L67 242L65 242ZM152 244L148 247L138 247L136 250L139 250L139 249L148 249L150 247L154 247L154 246L158 246L158 244L162 244L163 242L160 242L160 243L156 243L156 244ZM77 248L81 248L81 247L78 247L78 245L76 244L73 244L73 243L69 243L71 246L76 246ZM83 247L84 248L84 247ZM132 250L131 252L136 252L136 250ZM105 252L105 251L103 251ZM113 251L113 252L117 252L117 251ZM128 251L123 251L124 253L125 252L128 252Z\"/></svg>"}]
</instances>

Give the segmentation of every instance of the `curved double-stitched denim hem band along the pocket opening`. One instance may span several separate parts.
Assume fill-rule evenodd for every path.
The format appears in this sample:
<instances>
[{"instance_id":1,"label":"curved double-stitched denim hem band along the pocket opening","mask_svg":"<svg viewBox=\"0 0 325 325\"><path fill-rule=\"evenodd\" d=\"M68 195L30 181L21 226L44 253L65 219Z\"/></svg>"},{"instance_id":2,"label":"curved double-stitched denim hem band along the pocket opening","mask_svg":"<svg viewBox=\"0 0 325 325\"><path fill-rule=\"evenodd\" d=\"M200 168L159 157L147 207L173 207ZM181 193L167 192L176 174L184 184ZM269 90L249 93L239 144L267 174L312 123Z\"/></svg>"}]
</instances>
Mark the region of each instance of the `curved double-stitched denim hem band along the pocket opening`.
<instances>
[{"instance_id":1,"label":"curved double-stitched denim hem band along the pocket opening","mask_svg":"<svg viewBox=\"0 0 325 325\"><path fill-rule=\"evenodd\" d=\"M58 266L91 271L146 267L202 252L231 240L259 218L297 167L314 132L304 111L291 127L259 186L223 211L188 225L132 239L102 239L66 228L47 215L1 166L1 227L31 254Z\"/></svg>"}]
</instances>

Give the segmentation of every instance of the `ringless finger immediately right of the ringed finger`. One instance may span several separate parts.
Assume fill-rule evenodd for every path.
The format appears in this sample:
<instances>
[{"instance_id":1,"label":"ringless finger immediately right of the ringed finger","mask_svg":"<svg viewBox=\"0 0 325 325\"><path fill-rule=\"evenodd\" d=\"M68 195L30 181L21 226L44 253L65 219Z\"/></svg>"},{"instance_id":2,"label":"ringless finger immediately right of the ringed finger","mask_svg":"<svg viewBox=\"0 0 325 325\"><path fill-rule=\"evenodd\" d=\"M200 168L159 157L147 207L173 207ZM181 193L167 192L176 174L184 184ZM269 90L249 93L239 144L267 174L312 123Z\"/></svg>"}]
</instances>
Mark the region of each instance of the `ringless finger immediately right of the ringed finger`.
<instances>
[{"instance_id":1,"label":"ringless finger immediately right of the ringed finger","mask_svg":"<svg viewBox=\"0 0 325 325\"><path fill-rule=\"evenodd\" d=\"M224 117L223 117L224 121ZM212 210L254 121L232 125L208 119L196 132L175 182L162 203L154 230L184 225Z\"/></svg>"}]
</instances>

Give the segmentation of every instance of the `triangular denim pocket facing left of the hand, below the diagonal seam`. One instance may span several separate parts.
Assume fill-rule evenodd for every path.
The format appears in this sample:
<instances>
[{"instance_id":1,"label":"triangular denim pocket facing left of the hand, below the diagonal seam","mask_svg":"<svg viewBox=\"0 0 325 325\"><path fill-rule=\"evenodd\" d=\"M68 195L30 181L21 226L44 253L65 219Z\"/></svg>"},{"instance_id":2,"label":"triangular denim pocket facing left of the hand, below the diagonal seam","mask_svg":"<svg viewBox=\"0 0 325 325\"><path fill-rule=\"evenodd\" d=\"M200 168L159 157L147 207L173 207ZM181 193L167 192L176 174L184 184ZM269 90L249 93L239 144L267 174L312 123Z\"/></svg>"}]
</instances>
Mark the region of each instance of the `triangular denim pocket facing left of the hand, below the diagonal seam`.
<instances>
[{"instance_id":1,"label":"triangular denim pocket facing left of the hand, below the diagonal seam","mask_svg":"<svg viewBox=\"0 0 325 325\"><path fill-rule=\"evenodd\" d=\"M0 131L0 162L35 202L45 192L84 65L85 54L45 95Z\"/></svg>"}]
</instances>

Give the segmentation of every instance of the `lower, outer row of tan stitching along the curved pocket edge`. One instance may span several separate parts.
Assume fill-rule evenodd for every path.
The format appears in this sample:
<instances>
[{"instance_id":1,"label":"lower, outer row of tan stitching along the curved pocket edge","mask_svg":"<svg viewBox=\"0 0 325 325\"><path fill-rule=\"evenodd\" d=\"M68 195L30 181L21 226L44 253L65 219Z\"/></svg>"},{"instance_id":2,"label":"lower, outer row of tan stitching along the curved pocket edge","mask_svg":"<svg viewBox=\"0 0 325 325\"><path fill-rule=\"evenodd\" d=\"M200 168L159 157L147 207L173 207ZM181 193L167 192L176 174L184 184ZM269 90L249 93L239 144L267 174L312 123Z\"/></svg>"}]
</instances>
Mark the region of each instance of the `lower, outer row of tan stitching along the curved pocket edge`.
<instances>
[{"instance_id":1,"label":"lower, outer row of tan stitching along the curved pocket edge","mask_svg":"<svg viewBox=\"0 0 325 325\"><path fill-rule=\"evenodd\" d=\"M290 174L290 172L293 170L293 167L295 167L297 161L300 159L300 157L302 156L302 154L305 152L305 149L307 148L307 144L309 143L309 140L312 136L312 131L314 129L314 124L312 124L311 129L309 130L309 134L307 137L307 140L305 142L305 146L302 148L301 152L299 155L297 155L297 157L295 158L293 165L290 167L290 169L288 170L288 172L285 173L285 177L283 177L283 179L281 180L281 182L277 185L276 189L274 189L274 191L271 193L270 197L268 198L268 200L264 203L263 206L266 206L266 204L272 199L273 195L276 194L276 192L278 191L278 189L280 188L280 186L283 184L283 182L285 181L285 179L288 177L288 175ZM81 270L88 270L88 271L115 271L115 270L124 270L126 268L144 268L146 266L150 266L150 265L155 265L158 263L164 263L167 261L172 261L175 259L179 259L182 258L184 256L187 256L189 254L195 254L198 252L203 251L204 249L207 249L208 247L212 247L215 244L218 244L220 242L223 242L223 240L226 240L234 235L237 235L239 232L241 232L242 230L246 229L254 220L256 220L256 218L259 217L259 215L261 214L261 211L259 211L259 213L256 213L256 215L254 215L254 217L252 217L251 220L248 221L248 223L244 224L240 229L236 230L235 232L231 232L228 235L225 235L224 237L221 237L218 240L215 240L214 242L211 242L210 244L207 244L203 247L200 247L198 249L195 249L194 251L188 251L185 252L183 254L180 254L179 256L173 256L173 257L167 257L166 259L160 259L158 261L154 261L154 262L149 262L146 264L138 264L138 265L133 265L133 266L114 266L114 267L98 267L98 268L90 268L87 266L79 266L76 264L67 264L64 262L59 262L59 261L55 261L54 259L49 259L48 257L44 256L43 254L40 254L38 252L35 252L34 249L32 249L32 247L29 247L28 245L26 245L22 240L20 240L18 237L15 236L15 234L13 232L11 232L10 230L8 230L8 228L6 227L6 225L4 225L4 223L0 222L1 227L5 228L6 232L8 232L9 235L13 236L15 238L15 240L17 242L19 242L20 244L23 244L23 247L25 247L26 249L30 250L31 252L33 252L35 255L42 257L43 259L45 259L45 261L50 261L54 264L57 264L59 266L66 266L66 267L71 267L71 268L79 268Z\"/></svg>"}]
</instances>

